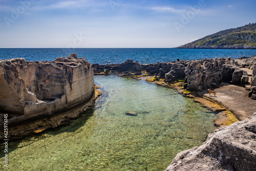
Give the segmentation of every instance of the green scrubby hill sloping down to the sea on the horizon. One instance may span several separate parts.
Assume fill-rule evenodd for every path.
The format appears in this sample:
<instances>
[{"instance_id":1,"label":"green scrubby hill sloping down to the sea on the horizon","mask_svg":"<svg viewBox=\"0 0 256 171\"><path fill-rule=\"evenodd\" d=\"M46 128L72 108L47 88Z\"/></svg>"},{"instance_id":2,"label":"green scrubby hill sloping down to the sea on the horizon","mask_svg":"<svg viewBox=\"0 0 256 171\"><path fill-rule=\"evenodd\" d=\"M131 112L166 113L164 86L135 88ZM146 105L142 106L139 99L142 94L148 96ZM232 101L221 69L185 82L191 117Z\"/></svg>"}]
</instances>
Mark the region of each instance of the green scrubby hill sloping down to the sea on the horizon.
<instances>
[{"instance_id":1,"label":"green scrubby hill sloping down to the sea on the horizon","mask_svg":"<svg viewBox=\"0 0 256 171\"><path fill-rule=\"evenodd\" d=\"M177 48L256 49L256 23L219 31Z\"/></svg>"}]
</instances>

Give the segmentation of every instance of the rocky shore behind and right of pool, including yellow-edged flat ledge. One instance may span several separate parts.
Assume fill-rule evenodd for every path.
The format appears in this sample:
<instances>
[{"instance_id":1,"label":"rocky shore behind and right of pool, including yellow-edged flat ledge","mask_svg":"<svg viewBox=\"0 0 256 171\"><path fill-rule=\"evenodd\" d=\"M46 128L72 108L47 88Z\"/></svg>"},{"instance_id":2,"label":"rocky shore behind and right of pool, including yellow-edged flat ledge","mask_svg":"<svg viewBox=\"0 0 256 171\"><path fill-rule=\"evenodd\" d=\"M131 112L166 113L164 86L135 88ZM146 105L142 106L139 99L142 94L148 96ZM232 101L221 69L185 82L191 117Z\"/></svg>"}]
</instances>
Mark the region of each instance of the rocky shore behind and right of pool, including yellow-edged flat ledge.
<instances>
[{"instance_id":1,"label":"rocky shore behind and right of pool, including yellow-edged flat ledge","mask_svg":"<svg viewBox=\"0 0 256 171\"><path fill-rule=\"evenodd\" d=\"M256 111L255 61L255 55L239 59L177 59L148 65L128 59L121 64L94 64L93 69L94 74L116 73L177 89L184 96L219 112L215 125L222 127L247 119ZM217 90L218 97L209 96L208 89Z\"/></svg>"}]
</instances>

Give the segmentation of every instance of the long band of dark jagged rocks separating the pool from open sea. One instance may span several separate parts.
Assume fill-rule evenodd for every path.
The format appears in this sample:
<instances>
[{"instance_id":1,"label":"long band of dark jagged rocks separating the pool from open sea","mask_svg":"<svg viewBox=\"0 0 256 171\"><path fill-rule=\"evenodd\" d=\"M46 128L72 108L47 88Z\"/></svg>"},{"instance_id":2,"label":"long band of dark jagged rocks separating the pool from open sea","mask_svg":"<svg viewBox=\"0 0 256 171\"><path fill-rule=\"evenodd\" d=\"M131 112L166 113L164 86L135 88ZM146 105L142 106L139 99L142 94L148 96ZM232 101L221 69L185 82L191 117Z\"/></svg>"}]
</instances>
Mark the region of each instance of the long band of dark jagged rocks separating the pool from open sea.
<instances>
[{"instance_id":1,"label":"long band of dark jagged rocks separating the pool from open sea","mask_svg":"<svg viewBox=\"0 0 256 171\"><path fill-rule=\"evenodd\" d=\"M221 82L244 86L249 84L249 76L241 68L253 69L251 86L256 86L256 56L241 59L215 58L202 60L176 60L140 65L137 61L127 60L116 65L93 65L94 72L135 72L140 74L145 70L157 80L164 79L172 83L184 79L183 88L190 91L203 91L217 88ZM128 73L129 74L129 73Z\"/></svg>"}]
</instances>

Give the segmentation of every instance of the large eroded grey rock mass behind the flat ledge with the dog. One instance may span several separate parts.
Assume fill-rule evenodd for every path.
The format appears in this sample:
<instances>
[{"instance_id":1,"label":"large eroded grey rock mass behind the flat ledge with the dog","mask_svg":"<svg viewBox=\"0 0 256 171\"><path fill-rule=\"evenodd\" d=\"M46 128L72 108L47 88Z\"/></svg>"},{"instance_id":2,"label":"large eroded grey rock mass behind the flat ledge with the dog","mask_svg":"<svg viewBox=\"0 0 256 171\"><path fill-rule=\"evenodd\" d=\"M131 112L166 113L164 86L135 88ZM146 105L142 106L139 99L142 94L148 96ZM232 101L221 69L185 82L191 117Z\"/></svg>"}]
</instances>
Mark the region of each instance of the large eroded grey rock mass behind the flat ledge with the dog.
<instances>
[{"instance_id":1,"label":"large eroded grey rock mass behind the flat ledge with the dog","mask_svg":"<svg viewBox=\"0 0 256 171\"><path fill-rule=\"evenodd\" d=\"M221 82L244 85L248 83L249 76L237 66L236 60L228 58L202 59L180 61L173 64L165 74L165 82L172 82L184 78L184 89L202 91L216 88ZM177 74L179 73L179 74Z\"/></svg>"}]
</instances>

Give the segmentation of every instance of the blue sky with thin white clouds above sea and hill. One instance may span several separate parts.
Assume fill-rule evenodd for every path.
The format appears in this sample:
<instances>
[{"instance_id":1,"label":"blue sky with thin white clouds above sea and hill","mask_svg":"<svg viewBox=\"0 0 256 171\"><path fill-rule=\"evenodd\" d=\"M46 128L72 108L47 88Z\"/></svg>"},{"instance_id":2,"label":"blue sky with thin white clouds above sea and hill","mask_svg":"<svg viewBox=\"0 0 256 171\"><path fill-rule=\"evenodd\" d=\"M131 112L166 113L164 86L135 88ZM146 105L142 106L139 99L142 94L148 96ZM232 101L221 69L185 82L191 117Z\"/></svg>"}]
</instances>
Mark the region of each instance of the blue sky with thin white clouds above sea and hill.
<instances>
[{"instance_id":1,"label":"blue sky with thin white clouds above sea and hill","mask_svg":"<svg viewBox=\"0 0 256 171\"><path fill-rule=\"evenodd\" d=\"M256 22L255 0L0 0L0 48L175 48Z\"/></svg>"}]
</instances>

